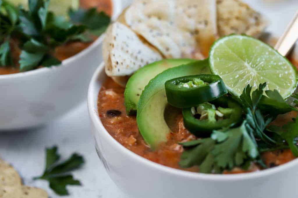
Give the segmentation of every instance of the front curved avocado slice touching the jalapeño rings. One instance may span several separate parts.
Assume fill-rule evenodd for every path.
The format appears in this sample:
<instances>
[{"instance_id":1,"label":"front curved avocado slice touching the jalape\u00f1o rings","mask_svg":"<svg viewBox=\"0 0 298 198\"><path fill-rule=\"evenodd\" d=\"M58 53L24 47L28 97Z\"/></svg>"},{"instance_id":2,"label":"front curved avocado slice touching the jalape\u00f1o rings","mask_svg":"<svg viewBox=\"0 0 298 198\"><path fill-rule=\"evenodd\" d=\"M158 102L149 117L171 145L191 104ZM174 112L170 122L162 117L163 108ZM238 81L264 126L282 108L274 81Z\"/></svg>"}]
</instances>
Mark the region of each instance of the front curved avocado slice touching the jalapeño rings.
<instances>
[{"instance_id":1,"label":"front curved avocado slice touching the jalape\u00f1o rings","mask_svg":"<svg viewBox=\"0 0 298 198\"><path fill-rule=\"evenodd\" d=\"M138 102L136 119L139 131L151 149L166 142L171 131L164 119L167 107L164 83L173 78L196 74L210 74L207 59L167 69L145 86Z\"/></svg>"}]
</instances>

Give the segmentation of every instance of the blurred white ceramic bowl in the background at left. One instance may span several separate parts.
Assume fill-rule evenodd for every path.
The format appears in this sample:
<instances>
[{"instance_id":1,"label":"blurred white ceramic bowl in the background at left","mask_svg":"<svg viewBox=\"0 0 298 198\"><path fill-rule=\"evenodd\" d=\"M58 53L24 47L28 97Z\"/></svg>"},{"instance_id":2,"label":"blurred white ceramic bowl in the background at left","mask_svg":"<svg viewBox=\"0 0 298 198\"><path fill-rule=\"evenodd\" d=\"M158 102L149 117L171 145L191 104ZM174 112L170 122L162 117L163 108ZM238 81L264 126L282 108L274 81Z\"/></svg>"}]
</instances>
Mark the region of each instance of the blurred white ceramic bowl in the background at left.
<instances>
[{"instance_id":1,"label":"blurred white ceramic bowl in the background at left","mask_svg":"<svg viewBox=\"0 0 298 198\"><path fill-rule=\"evenodd\" d=\"M113 0L113 5L115 19L121 0ZM0 75L0 131L41 125L83 102L91 76L103 61L103 39L104 35L60 66Z\"/></svg>"}]
</instances>

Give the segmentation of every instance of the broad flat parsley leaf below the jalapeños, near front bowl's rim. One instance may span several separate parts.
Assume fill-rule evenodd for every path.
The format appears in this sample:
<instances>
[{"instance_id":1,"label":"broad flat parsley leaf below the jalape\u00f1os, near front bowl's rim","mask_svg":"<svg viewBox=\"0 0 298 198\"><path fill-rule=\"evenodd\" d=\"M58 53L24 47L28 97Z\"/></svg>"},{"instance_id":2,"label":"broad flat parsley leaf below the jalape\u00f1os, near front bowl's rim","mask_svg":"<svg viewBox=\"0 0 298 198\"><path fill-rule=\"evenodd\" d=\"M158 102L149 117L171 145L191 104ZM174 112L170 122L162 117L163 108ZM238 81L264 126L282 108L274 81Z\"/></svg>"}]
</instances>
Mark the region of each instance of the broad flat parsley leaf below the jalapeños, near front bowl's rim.
<instances>
[{"instance_id":1,"label":"broad flat parsley leaf below the jalape\u00f1os, near front bowl's rim","mask_svg":"<svg viewBox=\"0 0 298 198\"><path fill-rule=\"evenodd\" d=\"M182 153L179 164L183 168L198 165L203 173L219 173L250 164L259 156L252 138L246 121L238 128L214 130L211 138L181 143L187 150Z\"/></svg>"}]
</instances>

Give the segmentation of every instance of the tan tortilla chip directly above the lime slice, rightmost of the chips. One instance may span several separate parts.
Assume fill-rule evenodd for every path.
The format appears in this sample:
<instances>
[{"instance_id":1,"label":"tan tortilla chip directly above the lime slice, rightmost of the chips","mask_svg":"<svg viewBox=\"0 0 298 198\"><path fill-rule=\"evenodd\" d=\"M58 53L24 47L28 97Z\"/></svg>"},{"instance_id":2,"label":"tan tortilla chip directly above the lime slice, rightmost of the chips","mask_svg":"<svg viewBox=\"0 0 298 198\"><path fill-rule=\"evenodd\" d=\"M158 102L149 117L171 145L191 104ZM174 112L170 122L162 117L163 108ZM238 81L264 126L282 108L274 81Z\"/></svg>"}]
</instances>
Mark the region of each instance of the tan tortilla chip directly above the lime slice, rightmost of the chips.
<instances>
[{"instance_id":1,"label":"tan tortilla chip directly above the lime slice, rightmost of the chips","mask_svg":"<svg viewBox=\"0 0 298 198\"><path fill-rule=\"evenodd\" d=\"M258 37L268 24L260 13L239 0L217 0L217 19L220 36L244 33Z\"/></svg>"}]
</instances>

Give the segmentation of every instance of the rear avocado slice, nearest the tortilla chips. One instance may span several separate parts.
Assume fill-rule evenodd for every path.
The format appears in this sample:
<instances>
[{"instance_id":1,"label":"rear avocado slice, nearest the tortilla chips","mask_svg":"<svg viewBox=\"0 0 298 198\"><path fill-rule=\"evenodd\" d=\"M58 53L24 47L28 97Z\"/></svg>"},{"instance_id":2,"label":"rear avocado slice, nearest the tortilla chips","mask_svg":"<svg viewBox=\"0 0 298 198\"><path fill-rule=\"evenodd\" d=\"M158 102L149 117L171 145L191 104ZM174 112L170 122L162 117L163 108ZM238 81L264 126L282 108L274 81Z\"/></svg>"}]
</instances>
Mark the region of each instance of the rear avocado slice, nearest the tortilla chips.
<instances>
[{"instance_id":1,"label":"rear avocado slice, nearest the tortilla chips","mask_svg":"<svg viewBox=\"0 0 298 198\"><path fill-rule=\"evenodd\" d=\"M149 81L166 69L193 62L192 59L164 59L148 64L132 75L125 88L125 107L128 115L136 114L140 95Z\"/></svg>"}]
</instances>

